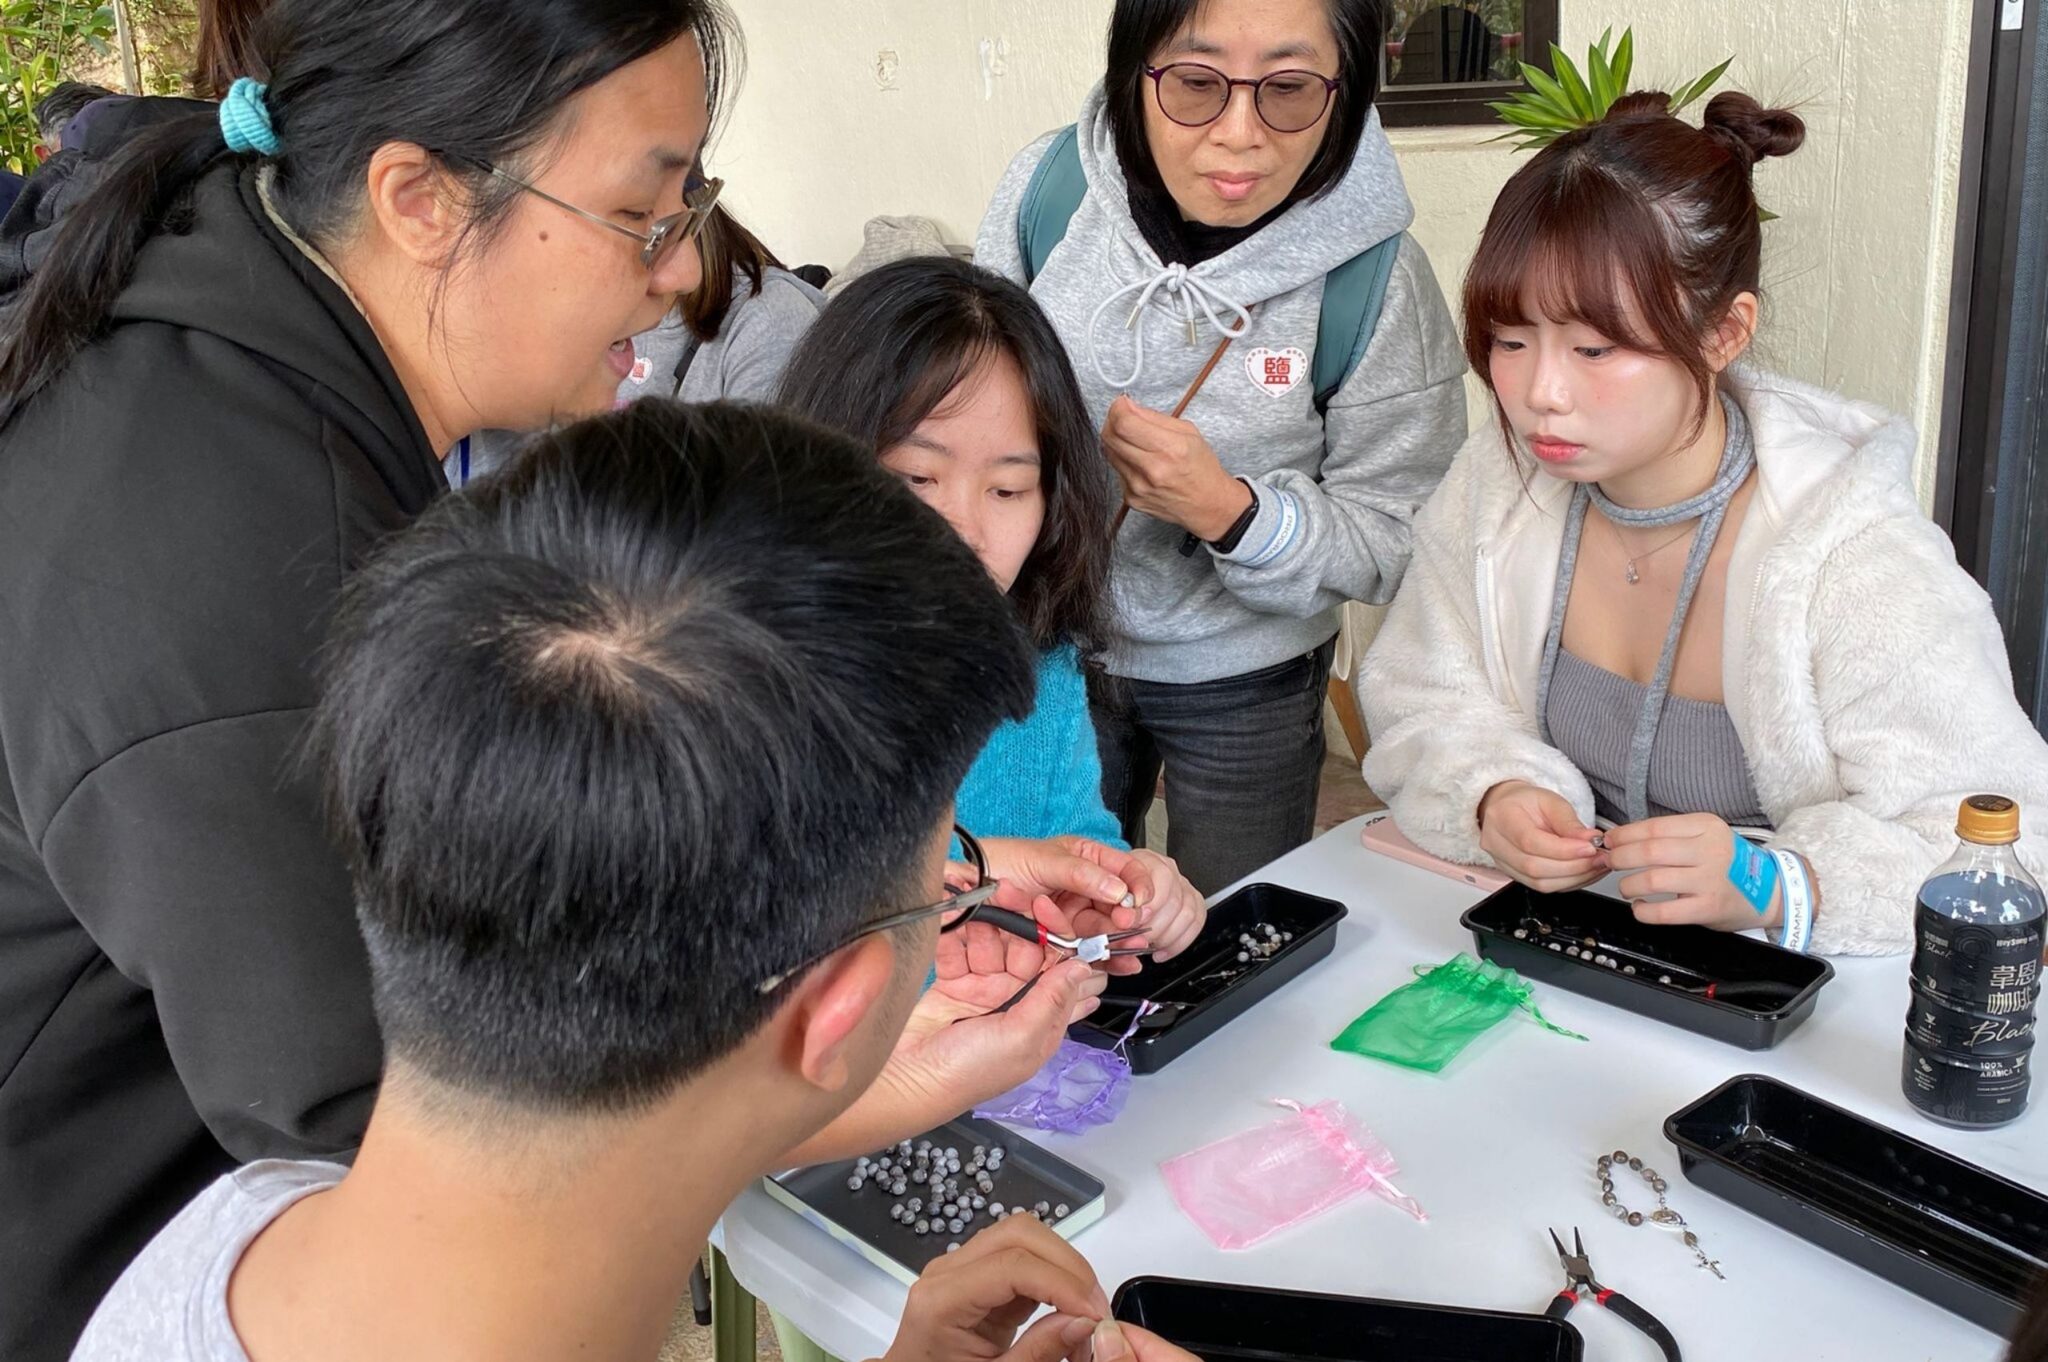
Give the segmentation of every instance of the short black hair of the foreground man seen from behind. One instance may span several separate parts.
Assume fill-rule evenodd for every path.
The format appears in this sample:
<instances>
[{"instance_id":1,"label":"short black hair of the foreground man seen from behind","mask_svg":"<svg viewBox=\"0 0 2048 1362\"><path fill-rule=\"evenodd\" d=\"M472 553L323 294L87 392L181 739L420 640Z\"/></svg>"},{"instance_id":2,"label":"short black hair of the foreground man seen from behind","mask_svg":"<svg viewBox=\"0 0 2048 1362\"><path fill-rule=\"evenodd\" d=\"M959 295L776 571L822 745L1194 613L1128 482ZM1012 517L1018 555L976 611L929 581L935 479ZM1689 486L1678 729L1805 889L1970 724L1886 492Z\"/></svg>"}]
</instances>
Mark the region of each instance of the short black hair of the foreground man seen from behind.
<instances>
[{"instance_id":1,"label":"short black hair of the foreground man seen from behind","mask_svg":"<svg viewBox=\"0 0 2048 1362\"><path fill-rule=\"evenodd\" d=\"M766 1020L766 977L918 905L1032 657L870 451L643 401L397 535L324 684L387 1049L594 1112L672 1092Z\"/></svg>"}]
</instances>

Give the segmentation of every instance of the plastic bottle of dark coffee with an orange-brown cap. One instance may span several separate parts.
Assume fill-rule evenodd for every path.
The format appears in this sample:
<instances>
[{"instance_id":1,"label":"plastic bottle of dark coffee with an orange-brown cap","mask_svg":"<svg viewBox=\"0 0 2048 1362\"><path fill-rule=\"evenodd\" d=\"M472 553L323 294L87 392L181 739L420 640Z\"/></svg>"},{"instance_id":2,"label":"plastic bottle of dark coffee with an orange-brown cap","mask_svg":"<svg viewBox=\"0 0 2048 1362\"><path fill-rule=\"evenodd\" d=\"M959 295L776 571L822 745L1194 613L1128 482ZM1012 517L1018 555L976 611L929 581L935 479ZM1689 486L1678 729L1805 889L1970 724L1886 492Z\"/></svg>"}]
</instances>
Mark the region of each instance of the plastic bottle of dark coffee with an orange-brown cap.
<instances>
[{"instance_id":1,"label":"plastic bottle of dark coffee with an orange-brown cap","mask_svg":"<svg viewBox=\"0 0 2048 1362\"><path fill-rule=\"evenodd\" d=\"M1956 854L1919 891L1903 1081L1927 1118L1982 1129L2028 1106L2044 899L2013 854L2011 799L1962 801L1956 836Z\"/></svg>"}]
</instances>

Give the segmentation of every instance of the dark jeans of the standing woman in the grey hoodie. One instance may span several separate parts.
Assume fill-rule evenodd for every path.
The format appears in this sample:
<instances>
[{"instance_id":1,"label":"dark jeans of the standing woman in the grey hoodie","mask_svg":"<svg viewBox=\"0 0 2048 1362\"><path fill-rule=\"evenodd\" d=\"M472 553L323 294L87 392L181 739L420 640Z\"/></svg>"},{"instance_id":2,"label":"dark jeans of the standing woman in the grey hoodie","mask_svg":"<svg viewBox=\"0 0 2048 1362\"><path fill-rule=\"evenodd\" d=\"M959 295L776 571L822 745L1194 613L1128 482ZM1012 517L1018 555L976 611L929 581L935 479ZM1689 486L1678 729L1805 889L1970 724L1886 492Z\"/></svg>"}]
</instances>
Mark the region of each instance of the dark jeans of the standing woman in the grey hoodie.
<instances>
[{"instance_id":1,"label":"dark jeans of the standing woman in the grey hoodie","mask_svg":"<svg viewBox=\"0 0 2048 1362\"><path fill-rule=\"evenodd\" d=\"M1204 895L1315 836L1331 639L1286 662L1192 686L1096 680L1102 803L1145 846L1165 768L1167 846Z\"/></svg>"}]
</instances>

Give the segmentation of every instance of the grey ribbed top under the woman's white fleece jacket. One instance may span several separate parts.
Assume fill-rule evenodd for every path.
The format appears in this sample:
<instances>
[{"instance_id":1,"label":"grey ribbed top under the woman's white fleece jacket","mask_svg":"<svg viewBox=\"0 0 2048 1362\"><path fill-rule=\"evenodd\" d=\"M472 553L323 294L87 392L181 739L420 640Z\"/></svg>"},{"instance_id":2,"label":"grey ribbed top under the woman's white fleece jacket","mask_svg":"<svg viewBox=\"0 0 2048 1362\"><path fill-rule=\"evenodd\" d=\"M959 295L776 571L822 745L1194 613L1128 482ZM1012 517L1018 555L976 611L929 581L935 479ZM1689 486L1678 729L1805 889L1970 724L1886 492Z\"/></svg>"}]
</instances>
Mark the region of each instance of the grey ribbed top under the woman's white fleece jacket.
<instances>
[{"instance_id":1,"label":"grey ribbed top under the woman's white fleece jacket","mask_svg":"<svg viewBox=\"0 0 2048 1362\"><path fill-rule=\"evenodd\" d=\"M1556 653L1546 709L1550 743L1585 774L1595 811L1612 823L1628 821L1628 758L1645 690L1565 649ZM1645 793L1651 817L1712 813L1731 827L1769 825L1724 705L1665 698Z\"/></svg>"}]
</instances>

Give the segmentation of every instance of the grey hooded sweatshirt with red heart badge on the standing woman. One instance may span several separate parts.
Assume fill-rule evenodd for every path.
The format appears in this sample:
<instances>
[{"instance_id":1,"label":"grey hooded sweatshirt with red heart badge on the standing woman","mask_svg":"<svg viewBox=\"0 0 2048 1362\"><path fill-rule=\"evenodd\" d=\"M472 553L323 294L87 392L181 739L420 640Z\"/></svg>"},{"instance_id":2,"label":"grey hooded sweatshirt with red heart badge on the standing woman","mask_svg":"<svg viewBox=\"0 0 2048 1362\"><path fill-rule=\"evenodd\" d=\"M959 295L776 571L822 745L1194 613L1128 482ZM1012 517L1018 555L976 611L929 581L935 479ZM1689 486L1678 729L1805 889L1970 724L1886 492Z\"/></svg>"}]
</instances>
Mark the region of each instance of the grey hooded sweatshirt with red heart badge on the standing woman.
<instances>
[{"instance_id":1,"label":"grey hooded sweatshirt with red heart badge on the standing woman","mask_svg":"<svg viewBox=\"0 0 2048 1362\"><path fill-rule=\"evenodd\" d=\"M1051 141L1010 162L975 248L1018 283L1018 211ZM1251 483L1257 516L1231 553L1194 555L1180 553L1180 526L1124 520L1108 670L1202 682L1286 662L1337 631L1346 600L1393 598L1415 510L1464 442L1464 352L1427 256L1405 236L1415 211L1380 117L1329 193L1196 266L1161 264L1130 219L1102 86L1081 104L1077 141L1087 197L1030 291L1098 426L1118 393L1171 412L1249 311L1186 420ZM1372 344L1319 416L1309 373L1323 279L1391 236L1401 248Z\"/></svg>"}]
</instances>

